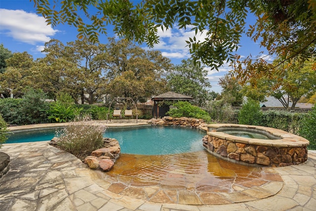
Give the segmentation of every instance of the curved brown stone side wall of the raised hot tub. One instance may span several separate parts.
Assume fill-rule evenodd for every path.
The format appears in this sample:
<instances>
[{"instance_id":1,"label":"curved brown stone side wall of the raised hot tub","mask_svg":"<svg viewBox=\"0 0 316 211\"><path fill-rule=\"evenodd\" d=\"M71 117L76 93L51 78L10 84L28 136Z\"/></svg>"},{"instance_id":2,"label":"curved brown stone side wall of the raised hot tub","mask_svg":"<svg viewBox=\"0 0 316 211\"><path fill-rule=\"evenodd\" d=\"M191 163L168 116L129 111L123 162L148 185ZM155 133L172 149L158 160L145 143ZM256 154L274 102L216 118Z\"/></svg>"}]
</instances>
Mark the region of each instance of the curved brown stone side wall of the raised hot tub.
<instances>
[{"instance_id":1,"label":"curved brown stone side wall of the raised hot tub","mask_svg":"<svg viewBox=\"0 0 316 211\"><path fill-rule=\"evenodd\" d=\"M307 161L307 148L273 147L238 143L218 137L205 135L203 146L212 154L241 161L271 167L298 165Z\"/></svg>"}]
</instances>

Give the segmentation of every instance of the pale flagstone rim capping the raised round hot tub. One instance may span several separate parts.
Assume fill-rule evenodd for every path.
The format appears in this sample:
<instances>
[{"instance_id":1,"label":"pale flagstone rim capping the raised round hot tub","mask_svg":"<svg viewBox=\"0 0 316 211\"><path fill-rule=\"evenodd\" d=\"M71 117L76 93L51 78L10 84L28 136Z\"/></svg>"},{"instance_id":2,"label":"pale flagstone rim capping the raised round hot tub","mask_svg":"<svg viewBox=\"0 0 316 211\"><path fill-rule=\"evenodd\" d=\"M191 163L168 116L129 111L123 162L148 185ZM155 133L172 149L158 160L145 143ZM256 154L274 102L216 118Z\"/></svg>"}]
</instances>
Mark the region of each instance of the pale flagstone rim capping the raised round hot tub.
<instances>
[{"instance_id":1,"label":"pale flagstone rim capping the raised round hot tub","mask_svg":"<svg viewBox=\"0 0 316 211\"><path fill-rule=\"evenodd\" d=\"M257 138L246 138L237 137L235 135L230 135L225 132L217 132L216 130L222 127L231 128L249 128L257 129L263 132L270 133L279 139L257 139ZM207 126L207 134L211 134L215 137L226 139L228 141L234 141L244 144L256 144L262 146L273 146L273 147L302 147L308 146L310 142L301 136L276 129L273 127L262 127L262 126L249 126L249 125L238 125L238 124L211 124Z\"/></svg>"}]
</instances>

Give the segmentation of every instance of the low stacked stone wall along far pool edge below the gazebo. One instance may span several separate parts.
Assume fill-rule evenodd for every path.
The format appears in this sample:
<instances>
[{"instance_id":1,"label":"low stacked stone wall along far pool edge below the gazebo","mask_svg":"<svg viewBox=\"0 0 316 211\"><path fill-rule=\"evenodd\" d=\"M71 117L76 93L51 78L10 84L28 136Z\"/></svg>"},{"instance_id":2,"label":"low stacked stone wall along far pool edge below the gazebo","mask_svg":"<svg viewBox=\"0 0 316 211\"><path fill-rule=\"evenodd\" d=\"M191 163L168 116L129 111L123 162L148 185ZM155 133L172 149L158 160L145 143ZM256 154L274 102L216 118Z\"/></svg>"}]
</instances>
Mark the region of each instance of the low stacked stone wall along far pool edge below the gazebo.
<instances>
[{"instance_id":1,"label":"low stacked stone wall along far pool edge below the gazebo","mask_svg":"<svg viewBox=\"0 0 316 211\"><path fill-rule=\"evenodd\" d=\"M179 127L196 127L200 129L207 129L207 124L202 119L188 118L188 117L163 117L161 119L152 119L153 125L161 126L179 126Z\"/></svg>"}]
</instances>

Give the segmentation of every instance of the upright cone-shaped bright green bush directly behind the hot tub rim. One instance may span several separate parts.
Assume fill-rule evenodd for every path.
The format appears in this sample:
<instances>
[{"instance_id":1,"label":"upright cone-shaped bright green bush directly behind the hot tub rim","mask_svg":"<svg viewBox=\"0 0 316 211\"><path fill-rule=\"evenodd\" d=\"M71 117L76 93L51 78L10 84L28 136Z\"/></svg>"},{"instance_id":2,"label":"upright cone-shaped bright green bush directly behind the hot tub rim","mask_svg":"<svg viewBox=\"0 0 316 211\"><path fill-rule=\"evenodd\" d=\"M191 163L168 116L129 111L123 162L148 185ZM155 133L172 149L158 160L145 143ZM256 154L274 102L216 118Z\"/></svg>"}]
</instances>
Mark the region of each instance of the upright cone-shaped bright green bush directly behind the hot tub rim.
<instances>
[{"instance_id":1,"label":"upright cone-shaped bright green bush directly behind the hot tub rim","mask_svg":"<svg viewBox=\"0 0 316 211\"><path fill-rule=\"evenodd\" d=\"M243 125L261 125L262 111L260 110L259 102L248 99L239 111L238 122Z\"/></svg>"}]
</instances>

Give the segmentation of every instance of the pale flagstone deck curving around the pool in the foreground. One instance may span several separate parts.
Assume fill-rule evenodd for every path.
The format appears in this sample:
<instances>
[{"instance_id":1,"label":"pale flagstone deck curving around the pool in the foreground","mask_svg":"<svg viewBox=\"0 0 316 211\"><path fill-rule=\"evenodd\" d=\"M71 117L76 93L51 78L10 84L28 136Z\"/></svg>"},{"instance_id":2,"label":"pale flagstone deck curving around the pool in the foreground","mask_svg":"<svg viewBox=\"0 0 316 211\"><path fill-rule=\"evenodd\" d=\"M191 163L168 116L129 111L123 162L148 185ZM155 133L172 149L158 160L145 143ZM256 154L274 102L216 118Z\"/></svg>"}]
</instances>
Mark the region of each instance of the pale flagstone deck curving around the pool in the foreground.
<instances>
[{"instance_id":1,"label":"pale flagstone deck curving around the pool in the foreground","mask_svg":"<svg viewBox=\"0 0 316 211\"><path fill-rule=\"evenodd\" d=\"M114 124L114 123L113 123ZM313 211L316 208L316 152L309 151L302 165L274 168L282 186L260 186L273 196L258 199L263 190L232 194L225 205L157 203L119 195L108 190L109 181L90 170L75 156L47 142L4 144L10 156L10 170L0 178L0 210L3 211ZM270 169L270 168L267 168ZM257 196L257 199L245 198ZM210 201L212 198L210 197ZM213 198L213 200L216 200Z\"/></svg>"}]
</instances>

